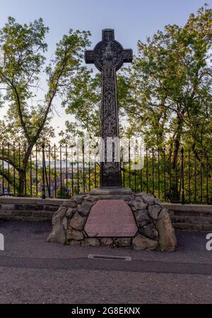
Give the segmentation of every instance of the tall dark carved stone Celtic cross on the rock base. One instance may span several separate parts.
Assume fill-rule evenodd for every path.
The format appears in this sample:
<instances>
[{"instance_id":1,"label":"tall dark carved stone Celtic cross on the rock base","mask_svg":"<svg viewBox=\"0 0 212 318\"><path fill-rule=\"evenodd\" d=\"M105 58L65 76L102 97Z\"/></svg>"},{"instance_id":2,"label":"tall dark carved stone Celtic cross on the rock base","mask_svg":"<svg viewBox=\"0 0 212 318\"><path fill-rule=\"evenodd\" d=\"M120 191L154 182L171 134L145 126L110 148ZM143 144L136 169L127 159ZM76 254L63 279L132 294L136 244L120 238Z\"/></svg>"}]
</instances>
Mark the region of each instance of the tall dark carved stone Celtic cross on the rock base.
<instances>
[{"instance_id":1,"label":"tall dark carved stone Celtic cross on the rock base","mask_svg":"<svg viewBox=\"0 0 212 318\"><path fill-rule=\"evenodd\" d=\"M123 49L114 40L114 30L102 30L102 41L93 50L85 52L87 64L95 64L102 73L102 139L105 141L105 162L100 165L100 187L122 187L120 163L114 162L114 148L112 162L107 162L107 138L119 137L119 119L117 107L117 79L116 71L123 63L132 61L131 49Z\"/></svg>"}]
</instances>

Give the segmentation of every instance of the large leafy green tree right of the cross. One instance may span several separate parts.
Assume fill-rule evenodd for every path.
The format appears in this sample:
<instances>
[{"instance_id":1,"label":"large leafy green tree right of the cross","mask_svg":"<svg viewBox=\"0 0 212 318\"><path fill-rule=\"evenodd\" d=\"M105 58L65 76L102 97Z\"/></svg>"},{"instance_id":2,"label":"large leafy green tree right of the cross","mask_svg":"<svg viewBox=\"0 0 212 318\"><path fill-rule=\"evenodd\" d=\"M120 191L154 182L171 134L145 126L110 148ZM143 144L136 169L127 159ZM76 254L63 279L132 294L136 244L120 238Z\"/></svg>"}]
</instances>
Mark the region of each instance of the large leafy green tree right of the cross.
<instances>
[{"instance_id":1,"label":"large leafy green tree right of the cross","mask_svg":"<svg viewBox=\"0 0 212 318\"><path fill-rule=\"evenodd\" d=\"M183 27L167 25L138 42L125 110L147 146L170 145L177 155L180 145L211 144L211 18L200 8Z\"/></svg>"}]
</instances>

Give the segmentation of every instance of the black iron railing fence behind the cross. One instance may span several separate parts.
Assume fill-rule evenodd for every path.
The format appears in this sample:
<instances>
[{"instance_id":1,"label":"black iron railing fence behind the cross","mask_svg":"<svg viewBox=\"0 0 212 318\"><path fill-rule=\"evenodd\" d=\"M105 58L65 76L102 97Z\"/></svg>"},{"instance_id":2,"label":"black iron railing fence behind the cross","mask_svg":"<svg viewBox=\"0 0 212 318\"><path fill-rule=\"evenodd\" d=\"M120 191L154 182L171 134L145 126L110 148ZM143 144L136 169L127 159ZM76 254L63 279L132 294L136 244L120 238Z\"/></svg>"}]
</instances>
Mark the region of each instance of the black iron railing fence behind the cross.
<instances>
[{"instance_id":1,"label":"black iron railing fence behind the cross","mask_svg":"<svg viewBox=\"0 0 212 318\"><path fill-rule=\"evenodd\" d=\"M79 158L73 147L37 145L28 160L25 156L25 145L1 145L1 196L69 198L100 186L96 148L89 153L83 148ZM207 151L151 148L132 158L129 147L128 161L123 157L121 149L122 187L152 193L163 202L212 204L212 155ZM139 160L143 167L134 170Z\"/></svg>"}]
</instances>

